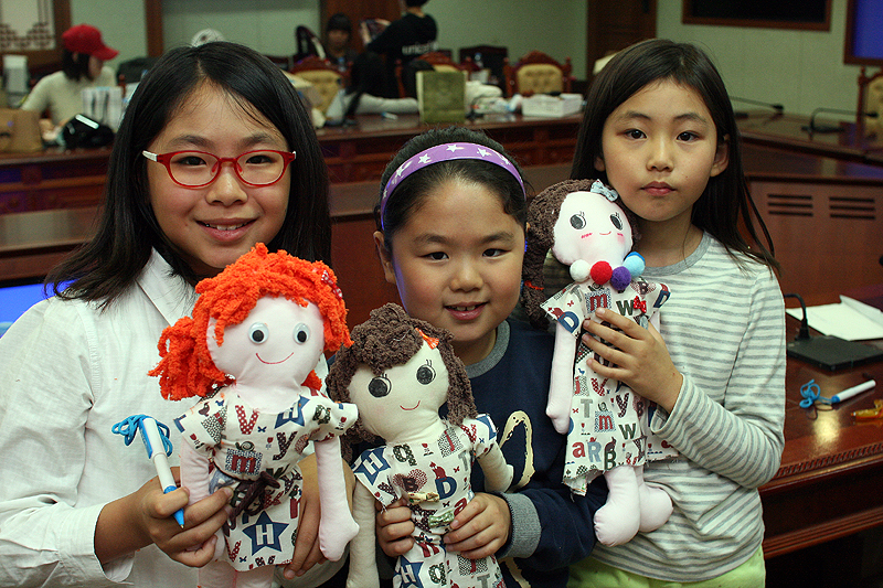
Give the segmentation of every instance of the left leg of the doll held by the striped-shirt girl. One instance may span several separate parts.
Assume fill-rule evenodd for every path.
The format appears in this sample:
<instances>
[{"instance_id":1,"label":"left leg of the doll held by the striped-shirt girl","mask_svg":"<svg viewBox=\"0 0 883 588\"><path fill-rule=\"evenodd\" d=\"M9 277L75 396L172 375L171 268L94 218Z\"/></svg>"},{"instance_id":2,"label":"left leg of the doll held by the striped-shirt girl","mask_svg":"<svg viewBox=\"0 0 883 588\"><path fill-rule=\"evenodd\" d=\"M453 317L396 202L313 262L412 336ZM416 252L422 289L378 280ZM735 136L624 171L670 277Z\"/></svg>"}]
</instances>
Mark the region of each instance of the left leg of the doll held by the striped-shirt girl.
<instances>
[{"instance_id":1,"label":"left leg of the doll held by the striped-shirt girl","mask_svg":"<svg viewBox=\"0 0 883 588\"><path fill-rule=\"evenodd\" d=\"M638 480L631 466L618 466L604 474L607 503L595 512L595 535L604 545L621 545L640 526Z\"/></svg>"}]
</instances>

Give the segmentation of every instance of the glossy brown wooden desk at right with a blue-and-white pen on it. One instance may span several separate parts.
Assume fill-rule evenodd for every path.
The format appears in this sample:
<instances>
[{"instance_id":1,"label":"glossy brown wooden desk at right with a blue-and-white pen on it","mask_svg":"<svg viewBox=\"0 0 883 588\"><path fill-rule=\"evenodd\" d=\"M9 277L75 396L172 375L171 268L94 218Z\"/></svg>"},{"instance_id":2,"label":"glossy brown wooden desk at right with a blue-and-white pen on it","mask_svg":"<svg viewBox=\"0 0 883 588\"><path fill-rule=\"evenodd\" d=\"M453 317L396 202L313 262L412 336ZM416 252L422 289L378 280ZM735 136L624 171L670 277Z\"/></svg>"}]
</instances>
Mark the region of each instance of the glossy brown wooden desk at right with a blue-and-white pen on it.
<instances>
[{"instance_id":1,"label":"glossy brown wooden desk at right with a blue-and-white pen on it","mask_svg":"<svg viewBox=\"0 0 883 588\"><path fill-rule=\"evenodd\" d=\"M864 300L880 299L883 286L864 292ZM797 324L788 318L788 340ZM881 384L830 410L799 406L800 386L810 379L830 397L866 379L862 374ZM832 373L789 359L786 394L781 466L760 488L767 558L883 525L883 420L852 417L883 398L883 362Z\"/></svg>"}]
</instances>

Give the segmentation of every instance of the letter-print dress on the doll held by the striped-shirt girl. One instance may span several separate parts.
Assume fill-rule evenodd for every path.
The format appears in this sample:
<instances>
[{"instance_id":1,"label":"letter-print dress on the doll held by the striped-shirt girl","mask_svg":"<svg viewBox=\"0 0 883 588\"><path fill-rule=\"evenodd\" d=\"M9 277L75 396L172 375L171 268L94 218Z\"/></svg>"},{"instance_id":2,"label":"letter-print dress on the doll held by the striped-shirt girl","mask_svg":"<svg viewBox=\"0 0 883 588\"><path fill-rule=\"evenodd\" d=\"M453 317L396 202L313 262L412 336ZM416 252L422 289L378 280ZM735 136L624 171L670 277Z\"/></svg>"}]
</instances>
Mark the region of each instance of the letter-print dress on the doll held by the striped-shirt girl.
<instances>
[{"instance_id":1,"label":"letter-print dress on the doll held by the striped-shirt girl","mask_svg":"<svg viewBox=\"0 0 883 588\"><path fill-rule=\"evenodd\" d=\"M570 284L543 303L549 316L578 341L563 477L576 494L584 495L592 480L617 466L642 466L648 459L677 455L650 432L656 403L635 394L619 381L598 376L586 364L591 350L582 341L583 321L594 319L596 309L611 309L646 328L668 298L666 285L640 278L631 280L621 292L609 284L598 286L588 279Z\"/></svg>"}]
</instances>

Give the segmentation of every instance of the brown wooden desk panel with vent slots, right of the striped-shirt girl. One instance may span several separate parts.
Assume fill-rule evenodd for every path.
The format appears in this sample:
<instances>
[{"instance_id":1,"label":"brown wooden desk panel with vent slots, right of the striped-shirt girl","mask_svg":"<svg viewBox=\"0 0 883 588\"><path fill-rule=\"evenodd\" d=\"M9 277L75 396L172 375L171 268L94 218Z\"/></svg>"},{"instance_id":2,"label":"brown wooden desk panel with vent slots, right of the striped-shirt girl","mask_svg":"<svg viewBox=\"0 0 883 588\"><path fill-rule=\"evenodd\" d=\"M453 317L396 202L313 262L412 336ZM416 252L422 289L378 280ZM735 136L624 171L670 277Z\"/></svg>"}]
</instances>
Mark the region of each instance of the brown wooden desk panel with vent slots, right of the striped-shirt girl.
<instances>
[{"instance_id":1,"label":"brown wooden desk panel with vent slots, right of the striped-shirt girl","mask_svg":"<svg viewBox=\"0 0 883 588\"><path fill-rule=\"evenodd\" d=\"M883 282L883 146L810 137L806 117L740 122L752 197L783 266L783 291L823 295ZM877 154L874 154L877 153ZM877 159L875 159L877 158Z\"/></svg>"}]
</instances>

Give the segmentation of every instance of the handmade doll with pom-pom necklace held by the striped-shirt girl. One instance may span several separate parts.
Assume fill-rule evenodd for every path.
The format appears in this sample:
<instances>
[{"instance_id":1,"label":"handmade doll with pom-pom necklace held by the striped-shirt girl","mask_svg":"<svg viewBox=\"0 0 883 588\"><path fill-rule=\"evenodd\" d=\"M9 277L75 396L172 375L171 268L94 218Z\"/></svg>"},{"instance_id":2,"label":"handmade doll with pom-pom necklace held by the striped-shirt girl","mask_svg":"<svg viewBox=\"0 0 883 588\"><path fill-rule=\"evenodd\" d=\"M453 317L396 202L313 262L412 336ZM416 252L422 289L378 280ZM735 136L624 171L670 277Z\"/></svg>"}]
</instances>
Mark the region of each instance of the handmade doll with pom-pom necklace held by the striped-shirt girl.
<instances>
[{"instance_id":1,"label":"handmade doll with pom-pom necklace held by the striped-shirt girl","mask_svg":"<svg viewBox=\"0 0 883 588\"><path fill-rule=\"evenodd\" d=\"M638 278L643 259L628 253L631 224L618 194L602 182L570 180L550 186L531 202L528 222L522 296L534 325L555 321L546 414L567 435L564 483L585 494L588 483L604 474L609 495L595 513L595 534L605 545L619 545L638 531L658 528L671 514L669 495L643 483L643 464L648 458L671 457L672 450L649 434L655 404L588 367L582 323L598 320L595 310L606 308L642 327L650 321L658 327L657 310L669 291ZM570 266L573 281L546 300L543 266L550 249Z\"/></svg>"}]
</instances>

